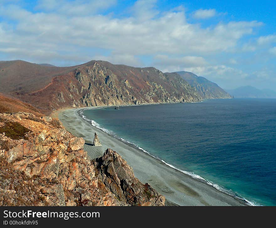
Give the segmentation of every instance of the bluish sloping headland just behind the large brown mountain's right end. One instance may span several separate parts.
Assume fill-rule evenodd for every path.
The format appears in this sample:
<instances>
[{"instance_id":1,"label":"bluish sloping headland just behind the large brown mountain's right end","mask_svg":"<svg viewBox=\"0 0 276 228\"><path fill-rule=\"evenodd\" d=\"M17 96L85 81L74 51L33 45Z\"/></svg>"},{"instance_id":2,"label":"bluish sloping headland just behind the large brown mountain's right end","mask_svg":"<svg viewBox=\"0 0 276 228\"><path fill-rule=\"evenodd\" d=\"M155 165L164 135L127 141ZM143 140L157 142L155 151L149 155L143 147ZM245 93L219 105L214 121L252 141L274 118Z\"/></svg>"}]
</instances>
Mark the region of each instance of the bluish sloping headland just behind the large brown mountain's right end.
<instances>
[{"instance_id":1,"label":"bluish sloping headland just behind the large brown mountain's right end","mask_svg":"<svg viewBox=\"0 0 276 228\"><path fill-rule=\"evenodd\" d=\"M207 80L205 77L199 77L191 72L175 72L193 86L199 95L204 99L231 98L231 95L220 88L216 83Z\"/></svg>"}]
</instances>

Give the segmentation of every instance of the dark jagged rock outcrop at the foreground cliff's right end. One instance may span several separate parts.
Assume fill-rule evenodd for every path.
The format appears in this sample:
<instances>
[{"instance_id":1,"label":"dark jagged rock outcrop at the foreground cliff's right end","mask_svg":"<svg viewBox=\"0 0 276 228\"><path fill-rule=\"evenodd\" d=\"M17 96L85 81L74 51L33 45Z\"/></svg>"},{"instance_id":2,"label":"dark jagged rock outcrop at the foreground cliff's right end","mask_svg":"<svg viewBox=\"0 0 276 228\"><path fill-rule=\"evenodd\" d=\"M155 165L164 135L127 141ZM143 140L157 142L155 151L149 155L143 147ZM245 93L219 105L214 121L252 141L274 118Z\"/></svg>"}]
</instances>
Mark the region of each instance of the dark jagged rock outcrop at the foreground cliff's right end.
<instances>
[{"instance_id":1,"label":"dark jagged rock outcrop at the foreground cliff's right end","mask_svg":"<svg viewBox=\"0 0 276 228\"><path fill-rule=\"evenodd\" d=\"M131 205L164 206L165 197L135 178L132 168L115 151L107 149L104 156L95 159L95 166L99 178L119 200Z\"/></svg>"}]
</instances>

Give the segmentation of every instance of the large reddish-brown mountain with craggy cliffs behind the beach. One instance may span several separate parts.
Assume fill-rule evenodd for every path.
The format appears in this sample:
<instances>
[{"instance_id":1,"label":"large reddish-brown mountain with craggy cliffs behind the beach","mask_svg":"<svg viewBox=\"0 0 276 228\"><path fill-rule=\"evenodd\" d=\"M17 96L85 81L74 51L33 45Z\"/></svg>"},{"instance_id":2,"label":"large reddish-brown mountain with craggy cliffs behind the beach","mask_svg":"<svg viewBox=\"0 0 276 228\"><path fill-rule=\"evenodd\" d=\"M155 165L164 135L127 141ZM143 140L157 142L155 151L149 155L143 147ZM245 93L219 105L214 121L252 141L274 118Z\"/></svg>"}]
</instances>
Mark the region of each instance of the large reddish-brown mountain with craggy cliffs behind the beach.
<instances>
[{"instance_id":1,"label":"large reddish-brown mountain with craggy cliffs behind the beach","mask_svg":"<svg viewBox=\"0 0 276 228\"><path fill-rule=\"evenodd\" d=\"M178 74L90 61L78 66L43 66L0 61L0 92L43 113L62 107L177 103L202 100Z\"/></svg>"}]
</instances>

